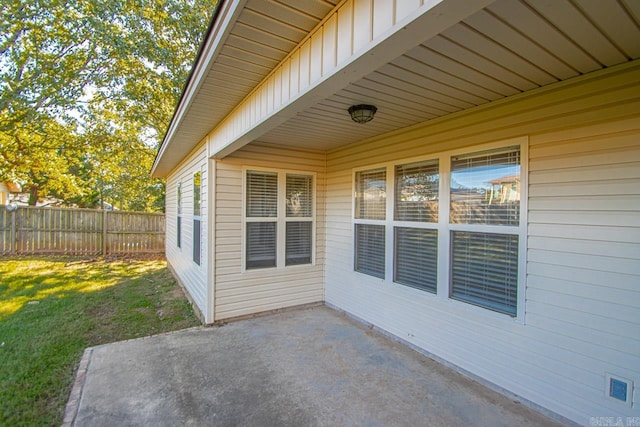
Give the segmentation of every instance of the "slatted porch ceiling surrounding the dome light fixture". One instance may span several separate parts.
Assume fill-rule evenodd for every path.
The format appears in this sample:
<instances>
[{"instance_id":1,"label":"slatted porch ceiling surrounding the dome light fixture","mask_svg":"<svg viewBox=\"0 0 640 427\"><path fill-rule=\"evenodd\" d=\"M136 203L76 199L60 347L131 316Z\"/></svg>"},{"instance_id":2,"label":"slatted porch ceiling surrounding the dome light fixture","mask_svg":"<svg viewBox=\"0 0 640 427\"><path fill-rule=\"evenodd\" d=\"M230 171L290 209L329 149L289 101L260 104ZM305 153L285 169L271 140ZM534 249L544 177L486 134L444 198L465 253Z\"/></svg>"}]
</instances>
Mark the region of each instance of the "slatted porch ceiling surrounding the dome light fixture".
<instances>
[{"instance_id":1,"label":"slatted porch ceiling surrounding the dome light fixture","mask_svg":"<svg viewBox=\"0 0 640 427\"><path fill-rule=\"evenodd\" d=\"M639 57L639 1L498 0L258 140L331 150Z\"/></svg>"}]
</instances>

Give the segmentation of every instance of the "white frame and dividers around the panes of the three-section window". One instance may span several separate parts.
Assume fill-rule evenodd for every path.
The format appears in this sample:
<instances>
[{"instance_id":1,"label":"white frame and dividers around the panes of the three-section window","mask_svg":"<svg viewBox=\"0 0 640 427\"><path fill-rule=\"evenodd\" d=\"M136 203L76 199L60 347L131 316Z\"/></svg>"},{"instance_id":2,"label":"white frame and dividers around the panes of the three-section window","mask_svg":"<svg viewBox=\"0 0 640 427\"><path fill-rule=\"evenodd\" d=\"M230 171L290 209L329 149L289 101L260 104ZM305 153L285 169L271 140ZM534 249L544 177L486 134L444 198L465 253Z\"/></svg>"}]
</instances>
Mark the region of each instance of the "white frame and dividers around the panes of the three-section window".
<instances>
[{"instance_id":1,"label":"white frame and dividers around the panes of the three-section window","mask_svg":"<svg viewBox=\"0 0 640 427\"><path fill-rule=\"evenodd\" d=\"M450 224L450 177L451 177L451 158L459 155L481 153L483 151L520 147L520 222L517 226L502 225L483 225L483 224ZM417 163L421 161L438 159L439 164L439 187L438 187L438 222L414 222L414 221L396 221L394 217L395 203L395 167L397 165L405 165ZM525 283L526 283L526 248L527 248L527 212L528 212L528 170L529 170L529 137L521 136L507 140L496 141L493 143L482 144L477 146L466 147L463 149L455 149L444 152L434 153L432 155L417 156L394 160L392 162L375 163L367 166L352 169L351 188L352 188L352 209L351 209L351 230L353 233L354 244L351 247L351 259L354 274L357 274L365 283L384 284L385 286L401 288L400 292L407 292L417 298L428 298L431 301L439 301L442 304L449 304L456 309L478 313L489 318L515 321L524 324L525 322ZM384 220L364 220L356 219L356 173L367 170L386 168L386 215ZM384 279L367 275L355 271L355 224L375 224L385 226L385 277ZM395 259L394 245L394 229L395 227L423 228L434 229L438 232L438 262L437 262L437 293L431 293L425 290L416 289L410 286L395 283L393 281L393 267ZM516 316L499 313L488 308L476 306L464 301L458 301L450 297L450 266L451 266L451 232L467 231L467 232L484 232L496 234L512 234L518 236L518 285L517 285L517 303Z\"/></svg>"}]
</instances>

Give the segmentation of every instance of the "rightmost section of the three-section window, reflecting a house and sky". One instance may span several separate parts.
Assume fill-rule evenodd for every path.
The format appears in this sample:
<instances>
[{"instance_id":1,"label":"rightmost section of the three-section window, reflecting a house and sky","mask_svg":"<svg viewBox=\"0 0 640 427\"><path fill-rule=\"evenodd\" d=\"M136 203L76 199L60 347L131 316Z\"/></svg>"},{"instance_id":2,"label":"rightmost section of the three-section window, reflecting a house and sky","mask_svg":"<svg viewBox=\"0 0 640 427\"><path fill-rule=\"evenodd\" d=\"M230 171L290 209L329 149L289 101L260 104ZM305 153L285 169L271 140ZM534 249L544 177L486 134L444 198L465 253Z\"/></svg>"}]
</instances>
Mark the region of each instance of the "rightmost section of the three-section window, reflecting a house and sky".
<instances>
[{"instance_id":1,"label":"rightmost section of the three-section window, reflecting a house and sky","mask_svg":"<svg viewBox=\"0 0 640 427\"><path fill-rule=\"evenodd\" d=\"M451 298L516 316L520 148L452 157L450 187Z\"/></svg>"}]
</instances>

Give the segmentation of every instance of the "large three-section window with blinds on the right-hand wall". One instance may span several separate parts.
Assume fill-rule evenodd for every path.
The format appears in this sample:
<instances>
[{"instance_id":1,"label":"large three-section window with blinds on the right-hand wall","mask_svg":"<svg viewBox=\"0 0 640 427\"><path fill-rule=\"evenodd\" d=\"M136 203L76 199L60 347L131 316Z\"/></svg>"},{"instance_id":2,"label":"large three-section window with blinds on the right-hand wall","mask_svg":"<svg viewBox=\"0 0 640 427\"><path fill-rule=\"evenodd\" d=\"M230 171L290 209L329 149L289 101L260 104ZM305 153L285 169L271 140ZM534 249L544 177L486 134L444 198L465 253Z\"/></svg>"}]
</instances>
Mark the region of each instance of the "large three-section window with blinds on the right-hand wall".
<instances>
[{"instance_id":1,"label":"large three-section window with blinds on the right-hand wall","mask_svg":"<svg viewBox=\"0 0 640 427\"><path fill-rule=\"evenodd\" d=\"M523 141L355 171L354 270L516 317Z\"/></svg>"}]
</instances>

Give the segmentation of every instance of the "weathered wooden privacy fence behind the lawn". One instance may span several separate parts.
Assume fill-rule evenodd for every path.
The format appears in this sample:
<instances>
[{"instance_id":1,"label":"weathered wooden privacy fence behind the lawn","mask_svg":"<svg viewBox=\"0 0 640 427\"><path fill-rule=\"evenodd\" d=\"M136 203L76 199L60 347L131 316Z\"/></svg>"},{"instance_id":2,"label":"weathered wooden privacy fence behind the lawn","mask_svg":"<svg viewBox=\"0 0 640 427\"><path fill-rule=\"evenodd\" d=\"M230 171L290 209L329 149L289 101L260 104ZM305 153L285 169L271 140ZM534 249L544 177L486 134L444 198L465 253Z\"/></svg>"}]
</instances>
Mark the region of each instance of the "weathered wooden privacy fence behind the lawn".
<instances>
[{"instance_id":1,"label":"weathered wooden privacy fence behind the lawn","mask_svg":"<svg viewBox=\"0 0 640 427\"><path fill-rule=\"evenodd\" d=\"M164 252L164 214L0 206L0 255Z\"/></svg>"}]
</instances>

